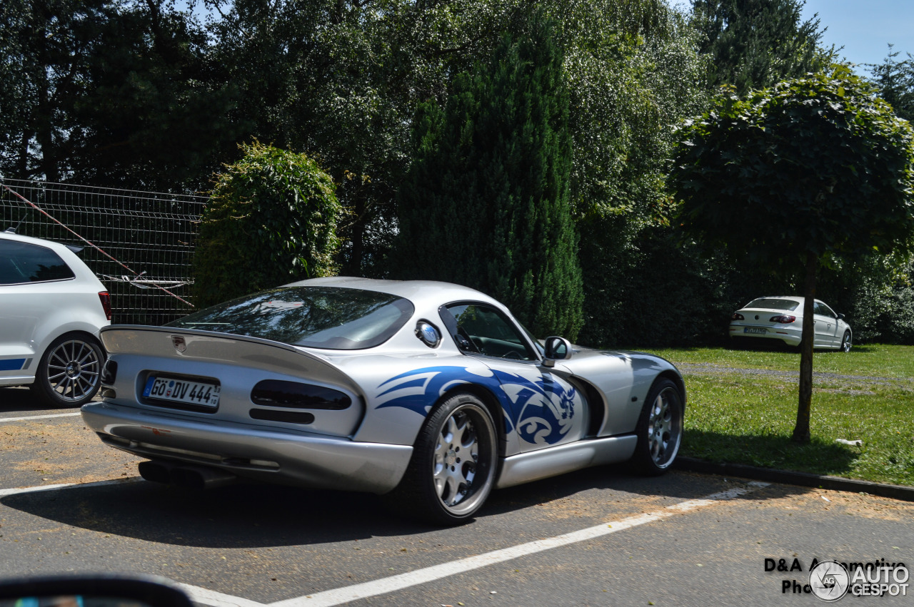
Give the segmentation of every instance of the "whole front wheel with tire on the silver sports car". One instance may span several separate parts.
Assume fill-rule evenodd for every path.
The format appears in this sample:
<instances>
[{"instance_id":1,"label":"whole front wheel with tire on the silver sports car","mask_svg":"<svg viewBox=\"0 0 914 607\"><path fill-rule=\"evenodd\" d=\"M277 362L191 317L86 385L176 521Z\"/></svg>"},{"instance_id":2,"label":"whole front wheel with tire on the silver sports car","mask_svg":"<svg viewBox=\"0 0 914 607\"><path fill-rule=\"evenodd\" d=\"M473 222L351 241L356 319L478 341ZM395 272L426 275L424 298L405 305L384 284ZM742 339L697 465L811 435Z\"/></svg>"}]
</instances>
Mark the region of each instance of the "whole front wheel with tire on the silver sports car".
<instances>
[{"instance_id":1,"label":"whole front wheel with tire on the silver sports car","mask_svg":"<svg viewBox=\"0 0 914 607\"><path fill-rule=\"evenodd\" d=\"M632 464L644 475L657 476L673 466L683 438L684 403L676 384L660 378L651 386L638 418L638 445Z\"/></svg>"}]
</instances>

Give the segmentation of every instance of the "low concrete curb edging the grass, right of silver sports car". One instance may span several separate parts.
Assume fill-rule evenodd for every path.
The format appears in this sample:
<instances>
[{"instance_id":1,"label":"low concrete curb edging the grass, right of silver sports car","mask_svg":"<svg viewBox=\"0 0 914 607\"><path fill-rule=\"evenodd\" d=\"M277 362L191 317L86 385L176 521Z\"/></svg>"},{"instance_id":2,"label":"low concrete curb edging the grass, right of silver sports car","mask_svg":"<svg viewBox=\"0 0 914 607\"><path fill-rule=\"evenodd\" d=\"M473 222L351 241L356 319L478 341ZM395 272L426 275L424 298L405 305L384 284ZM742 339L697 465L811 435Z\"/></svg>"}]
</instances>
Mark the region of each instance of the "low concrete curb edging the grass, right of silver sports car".
<instances>
[{"instance_id":1,"label":"low concrete curb edging the grass, right of silver sports car","mask_svg":"<svg viewBox=\"0 0 914 607\"><path fill-rule=\"evenodd\" d=\"M693 457L678 457L673 465L678 470L698 472L721 476L740 476L752 480L781 483L783 485L798 485L800 487L818 487L834 491L851 491L853 493L868 493L871 496L893 497L914 502L914 487L901 485L887 485L871 483L866 480L842 478L841 476L820 476L806 472L792 472L790 470L772 470L757 466L744 466L742 464L716 464Z\"/></svg>"}]
</instances>

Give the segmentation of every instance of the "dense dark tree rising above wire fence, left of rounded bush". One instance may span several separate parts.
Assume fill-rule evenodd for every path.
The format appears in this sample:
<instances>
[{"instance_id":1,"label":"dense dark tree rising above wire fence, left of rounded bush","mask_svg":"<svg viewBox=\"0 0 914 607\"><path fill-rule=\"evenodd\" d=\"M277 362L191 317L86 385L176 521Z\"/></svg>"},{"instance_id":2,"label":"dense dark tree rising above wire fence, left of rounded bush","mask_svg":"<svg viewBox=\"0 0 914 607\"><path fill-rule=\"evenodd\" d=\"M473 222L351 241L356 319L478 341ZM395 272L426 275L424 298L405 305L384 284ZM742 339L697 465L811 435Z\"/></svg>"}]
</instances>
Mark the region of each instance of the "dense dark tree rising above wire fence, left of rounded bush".
<instances>
[{"instance_id":1,"label":"dense dark tree rising above wire fence, left of rounded bush","mask_svg":"<svg viewBox=\"0 0 914 607\"><path fill-rule=\"evenodd\" d=\"M155 191L200 190L241 135L228 120L234 84L206 32L167 0L118 4L101 26L73 107L82 129L74 181Z\"/></svg>"}]
</instances>

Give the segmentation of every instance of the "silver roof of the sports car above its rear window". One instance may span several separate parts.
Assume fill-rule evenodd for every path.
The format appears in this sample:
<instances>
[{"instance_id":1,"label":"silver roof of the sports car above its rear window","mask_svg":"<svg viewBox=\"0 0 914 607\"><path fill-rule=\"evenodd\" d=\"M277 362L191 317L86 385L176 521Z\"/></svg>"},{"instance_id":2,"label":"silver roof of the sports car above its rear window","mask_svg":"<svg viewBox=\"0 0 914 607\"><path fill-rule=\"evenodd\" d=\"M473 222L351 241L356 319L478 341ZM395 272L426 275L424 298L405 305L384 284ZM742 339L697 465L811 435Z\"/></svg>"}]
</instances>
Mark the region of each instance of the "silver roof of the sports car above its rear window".
<instances>
[{"instance_id":1,"label":"silver roof of the sports car above its rear window","mask_svg":"<svg viewBox=\"0 0 914 607\"><path fill-rule=\"evenodd\" d=\"M292 285L307 287L361 288L367 291L380 291L401 298L407 298L420 308L426 306L437 307L445 301L470 300L492 304L499 309L504 309L504 306L499 301L474 288L454 285L450 282L438 282L436 280L382 280L359 277L324 277L301 280L299 282L291 283L291 285L286 285L286 287Z\"/></svg>"}]
</instances>

